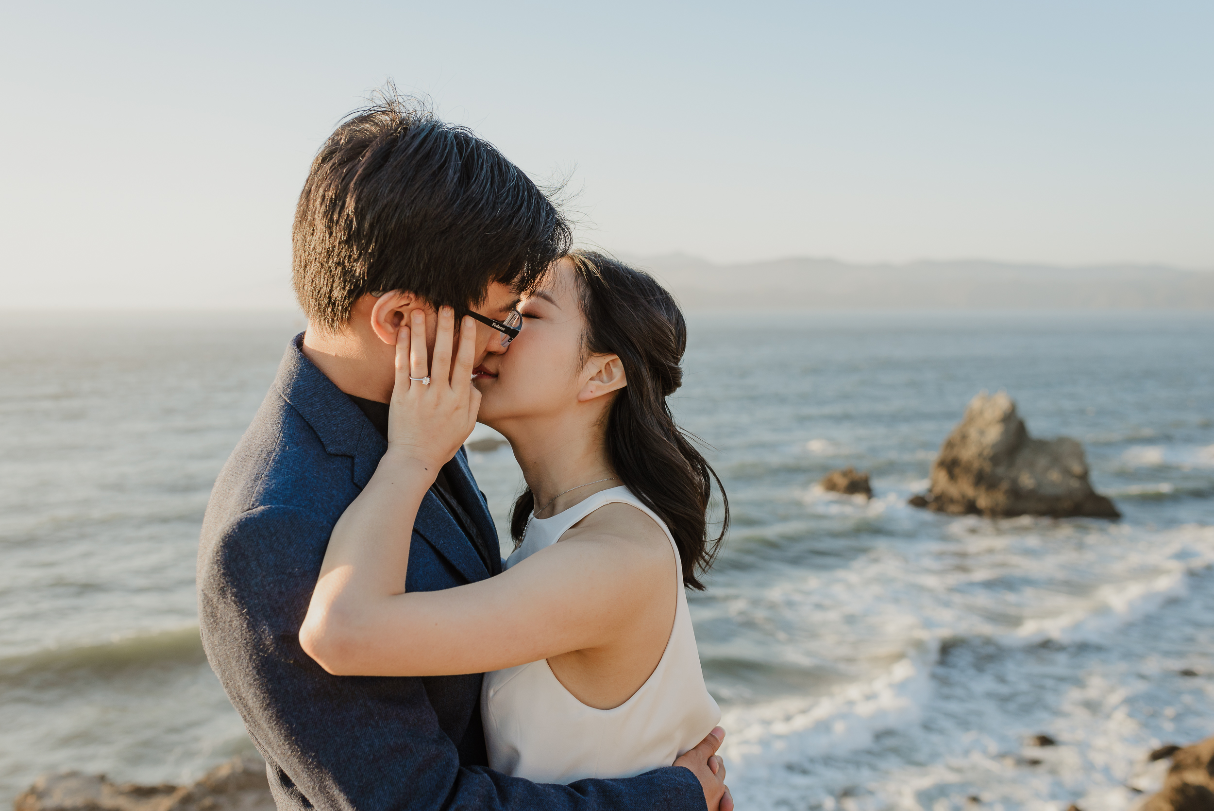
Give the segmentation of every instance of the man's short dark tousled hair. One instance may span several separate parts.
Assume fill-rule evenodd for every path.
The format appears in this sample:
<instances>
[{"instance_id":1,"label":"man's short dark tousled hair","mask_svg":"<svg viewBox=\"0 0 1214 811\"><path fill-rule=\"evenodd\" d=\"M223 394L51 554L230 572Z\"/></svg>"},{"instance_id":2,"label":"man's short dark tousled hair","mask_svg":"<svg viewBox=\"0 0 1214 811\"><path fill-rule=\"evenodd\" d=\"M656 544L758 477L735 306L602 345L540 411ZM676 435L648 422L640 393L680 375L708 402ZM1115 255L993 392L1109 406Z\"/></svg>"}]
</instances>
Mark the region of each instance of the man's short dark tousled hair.
<instances>
[{"instance_id":1,"label":"man's short dark tousled hair","mask_svg":"<svg viewBox=\"0 0 1214 811\"><path fill-rule=\"evenodd\" d=\"M490 282L529 289L569 240L561 212L493 144L388 85L312 161L293 282L308 319L339 330L367 293L463 308Z\"/></svg>"}]
</instances>

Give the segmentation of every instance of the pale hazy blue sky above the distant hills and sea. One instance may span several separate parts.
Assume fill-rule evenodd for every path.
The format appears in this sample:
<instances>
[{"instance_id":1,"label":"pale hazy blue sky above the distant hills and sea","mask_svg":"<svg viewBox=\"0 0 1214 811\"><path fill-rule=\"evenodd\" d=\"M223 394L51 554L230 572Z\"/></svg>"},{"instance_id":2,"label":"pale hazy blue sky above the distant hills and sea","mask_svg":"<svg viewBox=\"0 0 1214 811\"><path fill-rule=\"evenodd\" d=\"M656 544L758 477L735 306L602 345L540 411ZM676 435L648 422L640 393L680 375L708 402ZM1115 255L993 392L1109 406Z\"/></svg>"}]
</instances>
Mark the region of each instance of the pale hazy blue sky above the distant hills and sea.
<instances>
[{"instance_id":1,"label":"pale hazy blue sky above the distant hills and sea","mask_svg":"<svg viewBox=\"0 0 1214 811\"><path fill-rule=\"evenodd\" d=\"M583 240L1214 267L1214 4L5 4L0 306L285 306L312 154L386 78Z\"/></svg>"}]
</instances>

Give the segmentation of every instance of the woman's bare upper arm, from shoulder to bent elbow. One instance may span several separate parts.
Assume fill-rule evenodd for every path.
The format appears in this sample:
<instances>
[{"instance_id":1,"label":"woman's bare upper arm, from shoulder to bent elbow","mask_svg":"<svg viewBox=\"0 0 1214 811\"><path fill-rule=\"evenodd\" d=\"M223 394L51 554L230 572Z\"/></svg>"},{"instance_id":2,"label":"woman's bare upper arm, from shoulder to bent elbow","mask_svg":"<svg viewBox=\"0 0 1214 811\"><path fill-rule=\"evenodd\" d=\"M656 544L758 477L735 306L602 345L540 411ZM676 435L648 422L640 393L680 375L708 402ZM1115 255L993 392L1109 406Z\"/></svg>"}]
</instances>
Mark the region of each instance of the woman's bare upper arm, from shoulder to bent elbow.
<instances>
[{"instance_id":1,"label":"woman's bare upper arm, from shoulder to bent elbow","mask_svg":"<svg viewBox=\"0 0 1214 811\"><path fill-rule=\"evenodd\" d=\"M622 506L660 535L648 516ZM390 594L356 577L322 578L324 592L317 589L308 616L319 608L340 619L312 640L320 656L310 654L339 675L425 676L609 645L674 586L670 544L659 540L588 527L498 577L442 591Z\"/></svg>"}]
</instances>

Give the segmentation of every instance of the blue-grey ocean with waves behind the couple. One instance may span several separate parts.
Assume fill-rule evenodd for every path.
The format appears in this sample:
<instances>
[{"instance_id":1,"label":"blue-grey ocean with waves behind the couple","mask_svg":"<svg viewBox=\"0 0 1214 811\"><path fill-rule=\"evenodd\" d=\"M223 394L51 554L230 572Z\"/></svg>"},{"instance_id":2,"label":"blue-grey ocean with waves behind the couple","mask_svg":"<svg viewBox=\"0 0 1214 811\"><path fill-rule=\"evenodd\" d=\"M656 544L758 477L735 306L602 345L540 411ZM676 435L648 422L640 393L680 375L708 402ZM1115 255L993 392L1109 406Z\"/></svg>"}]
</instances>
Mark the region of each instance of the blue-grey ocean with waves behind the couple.
<instances>
[{"instance_id":1,"label":"blue-grey ocean with waves behind the couple","mask_svg":"<svg viewBox=\"0 0 1214 811\"><path fill-rule=\"evenodd\" d=\"M1214 735L1214 317L690 323L674 408L733 516L691 607L739 810L1128 810L1162 781L1152 748ZM183 781L253 752L198 641L194 557L301 324L6 314L0 804L47 771ZM907 506L981 390L1080 439L1124 518ZM471 464L505 538L514 458ZM872 500L816 487L845 465Z\"/></svg>"}]
</instances>

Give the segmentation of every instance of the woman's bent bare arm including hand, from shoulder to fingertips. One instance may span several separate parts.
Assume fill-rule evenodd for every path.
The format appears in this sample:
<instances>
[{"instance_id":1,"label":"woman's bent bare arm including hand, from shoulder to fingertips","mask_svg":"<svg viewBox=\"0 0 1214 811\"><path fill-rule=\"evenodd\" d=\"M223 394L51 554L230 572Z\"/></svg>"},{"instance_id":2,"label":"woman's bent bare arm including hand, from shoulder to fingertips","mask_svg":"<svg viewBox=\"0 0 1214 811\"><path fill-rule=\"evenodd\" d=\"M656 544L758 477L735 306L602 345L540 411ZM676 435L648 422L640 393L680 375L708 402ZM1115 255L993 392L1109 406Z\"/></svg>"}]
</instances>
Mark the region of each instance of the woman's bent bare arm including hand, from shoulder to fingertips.
<instances>
[{"instance_id":1,"label":"woman's bent bare arm including hand, from shoulder to fingertips","mask_svg":"<svg viewBox=\"0 0 1214 811\"><path fill-rule=\"evenodd\" d=\"M444 308L429 369L420 311L397 339L392 409L401 419L391 421L374 476L334 527L300 629L305 652L335 675L482 673L601 647L631 630L670 586L664 533L619 505L495 578L403 592L421 499L467 438L480 403L471 385L475 329L461 330L448 374L453 334ZM427 373L429 385L408 380Z\"/></svg>"}]
</instances>

